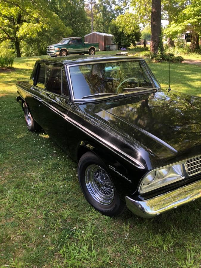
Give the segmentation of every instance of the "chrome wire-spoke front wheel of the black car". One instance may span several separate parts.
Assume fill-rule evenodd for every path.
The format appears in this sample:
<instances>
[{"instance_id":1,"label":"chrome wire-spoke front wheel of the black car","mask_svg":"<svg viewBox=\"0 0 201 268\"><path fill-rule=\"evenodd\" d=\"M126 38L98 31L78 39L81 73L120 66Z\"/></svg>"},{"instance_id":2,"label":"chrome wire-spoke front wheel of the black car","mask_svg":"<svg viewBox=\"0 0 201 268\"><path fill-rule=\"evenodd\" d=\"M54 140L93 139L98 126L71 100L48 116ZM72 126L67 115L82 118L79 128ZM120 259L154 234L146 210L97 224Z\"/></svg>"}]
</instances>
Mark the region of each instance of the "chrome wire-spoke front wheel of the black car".
<instances>
[{"instance_id":1,"label":"chrome wire-spoke front wheel of the black car","mask_svg":"<svg viewBox=\"0 0 201 268\"><path fill-rule=\"evenodd\" d=\"M114 187L109 174L98 165L85 171L85 183L91 196L102 205L109 205L114 198Z\"/></svg>"}]
</instances>

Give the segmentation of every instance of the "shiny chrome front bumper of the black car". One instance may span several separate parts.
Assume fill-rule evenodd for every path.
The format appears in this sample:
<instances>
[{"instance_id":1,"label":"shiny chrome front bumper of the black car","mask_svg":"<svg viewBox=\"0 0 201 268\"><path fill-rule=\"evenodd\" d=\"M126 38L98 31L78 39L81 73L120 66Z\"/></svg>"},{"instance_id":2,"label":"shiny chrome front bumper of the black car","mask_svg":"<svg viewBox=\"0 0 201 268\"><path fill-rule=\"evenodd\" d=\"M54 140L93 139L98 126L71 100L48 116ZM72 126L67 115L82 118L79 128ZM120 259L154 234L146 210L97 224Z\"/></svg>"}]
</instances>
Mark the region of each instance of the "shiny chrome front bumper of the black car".
<instances>
[{"instance_id":1,"label":"shiny chrome front bumper of the black car","mask_svg":"<svg viewBox=\"0 0 201 268\"><path fill-rule=\"evenodd\" d=\"M143 201L126 196L126 205L134 214L143 218L152 218L199 197L201 197L201 180Z\"/></svg>"}]
</instances>

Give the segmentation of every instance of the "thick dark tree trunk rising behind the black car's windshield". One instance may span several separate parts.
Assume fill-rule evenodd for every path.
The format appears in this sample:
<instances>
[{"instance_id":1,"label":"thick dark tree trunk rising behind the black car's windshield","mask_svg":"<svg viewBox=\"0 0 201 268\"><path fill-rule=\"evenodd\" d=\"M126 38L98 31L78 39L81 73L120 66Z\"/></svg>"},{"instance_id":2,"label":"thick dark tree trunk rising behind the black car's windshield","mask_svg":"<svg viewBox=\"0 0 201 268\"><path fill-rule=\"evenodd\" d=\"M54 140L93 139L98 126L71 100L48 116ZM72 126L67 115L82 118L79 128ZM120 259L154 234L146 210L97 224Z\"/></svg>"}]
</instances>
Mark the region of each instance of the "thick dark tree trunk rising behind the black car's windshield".
<instances>
[{"instance_id":1,"label":"thick dark tree trunk rising behind the black car's windshield","mask_svg":"<svg viewBox=\"0 0 201 268\"><path fill-rule=\"evenodd\" d=\"M154 54L157 54L159 51L163 52L161 37L161 0L152 0L150 49Z\"/></svg>"}]
</instances>

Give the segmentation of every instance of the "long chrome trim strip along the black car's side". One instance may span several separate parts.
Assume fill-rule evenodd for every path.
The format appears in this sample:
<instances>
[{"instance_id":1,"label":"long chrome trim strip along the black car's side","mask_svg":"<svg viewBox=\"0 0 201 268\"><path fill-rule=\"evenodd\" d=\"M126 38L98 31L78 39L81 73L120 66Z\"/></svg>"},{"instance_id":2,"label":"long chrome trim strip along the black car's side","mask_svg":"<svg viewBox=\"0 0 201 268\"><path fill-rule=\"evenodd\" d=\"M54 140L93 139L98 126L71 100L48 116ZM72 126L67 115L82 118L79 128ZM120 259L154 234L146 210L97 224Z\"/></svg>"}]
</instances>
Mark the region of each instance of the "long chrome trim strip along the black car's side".
<instances>
[{"instance_id":1,"label":"long chrome trim strip along the black car's side","mask_svg":"<svg viewBox=\"0 0 201 268\"><path fill-rule=\"evenodd\" d=\"M26 91L28 94L30 94L31 96L33 96L34 98L38 99L38 97L34 94L32 94L31 92L27 91L26 89L23 88L24 91ZM61 96L60 96L61 97ZM140 163L137 159L131 157L130 155L127 155L127 153L123 152L121 149L119 149L118 147L114 146L112 143L106 141L105 139L101 138L99 135L95 134L94 132L92 132L91 130L88 130L86 127L83 127L81 124L79 124L77 121L71 119L68 115L69 110L67 111L67 114L62 113L60 110L58 110L57 108L55 108L54 106L52 106L51 104L49 104L48 102L42 100L42 103L44 103L46 106L48 106L51 110L53 110L54 112L56 112L57 114L59 114L60 116L62 116L64 119L66 119L66 121L70 122L71 124L75 125L76 127L78 127L79 129L81 129L82 131L84 131L87 134L91 134L93 135L92 138L94 138L96 141L102 141L102 144L109 148L111 151L113 151L114 153L116 153L117 155L119 155L121 158L123 158L124 160L126 160L127 162L131 163L133 166L139 168L139 169L144 169L144 165L142 163ZM118 154L117 152L119 152L120 154ZM123 155L126 157L124 158ZM128 158L128 159L127 159ZM132 160L132 161L130 161Z\"/></svg>"}]
</instances>

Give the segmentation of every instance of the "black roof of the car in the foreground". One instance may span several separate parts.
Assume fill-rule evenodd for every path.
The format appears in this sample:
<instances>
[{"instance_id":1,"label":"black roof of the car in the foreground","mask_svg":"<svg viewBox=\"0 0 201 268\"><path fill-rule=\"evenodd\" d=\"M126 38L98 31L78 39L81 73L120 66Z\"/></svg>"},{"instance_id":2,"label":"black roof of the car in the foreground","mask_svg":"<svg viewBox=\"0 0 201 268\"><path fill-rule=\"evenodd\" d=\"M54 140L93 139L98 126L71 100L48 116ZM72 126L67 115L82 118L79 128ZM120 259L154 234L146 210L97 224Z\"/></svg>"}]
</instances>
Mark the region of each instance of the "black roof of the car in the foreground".
<instances>
[{"instance_id":1,"label":"black roof of the car in the foreground","mask_svg":"<svg viewBox=\"0 0 201 268\"><path fill-rule=\"evenodd\" d=\"M117 55L73 55L66 57L52 57L44 60L38 60L41 63L55 63L61 65L72 65L78 63L110 61L110 60L143 60L140 57L117 56Z\"/></svg>"}]
</instances>

